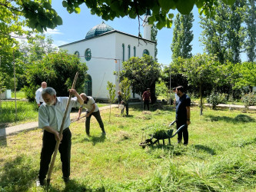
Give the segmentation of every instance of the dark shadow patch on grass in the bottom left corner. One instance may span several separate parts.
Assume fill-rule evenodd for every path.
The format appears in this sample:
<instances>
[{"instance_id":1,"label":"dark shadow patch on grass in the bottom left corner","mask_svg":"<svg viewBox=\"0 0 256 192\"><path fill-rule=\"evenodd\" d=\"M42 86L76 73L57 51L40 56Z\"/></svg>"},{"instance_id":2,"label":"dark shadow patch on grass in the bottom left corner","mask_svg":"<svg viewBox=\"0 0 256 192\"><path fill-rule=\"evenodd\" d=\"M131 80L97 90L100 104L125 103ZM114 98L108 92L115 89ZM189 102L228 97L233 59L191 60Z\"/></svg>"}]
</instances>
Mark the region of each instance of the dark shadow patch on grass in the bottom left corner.
<instances>
[{"instance_id":1,"label":"dark shadow patch on grass in the bottom left corner","mask_svg":"<svg viewBox=\"0 0 256 192\"><path fill-rule=\"evenodd\" d=\"M35 183L38 170L24 154L5 163L0 169L0 189L3 191L27 191Z\"/></svg>"}]
</instances>

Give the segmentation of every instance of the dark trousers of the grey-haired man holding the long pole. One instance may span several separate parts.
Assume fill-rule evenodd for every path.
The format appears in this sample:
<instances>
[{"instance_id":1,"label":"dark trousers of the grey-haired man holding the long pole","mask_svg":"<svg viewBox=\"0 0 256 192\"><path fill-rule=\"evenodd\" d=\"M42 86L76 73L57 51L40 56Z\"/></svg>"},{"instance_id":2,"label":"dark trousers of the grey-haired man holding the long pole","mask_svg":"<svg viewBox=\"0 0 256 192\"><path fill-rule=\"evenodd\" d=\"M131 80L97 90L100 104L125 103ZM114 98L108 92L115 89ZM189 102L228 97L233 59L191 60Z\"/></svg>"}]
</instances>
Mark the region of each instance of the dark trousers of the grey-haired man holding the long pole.
<instances>
[{"instance_id":1,"label":"dark trousers of the grey-haired man holding the long pole","mask_svg":"<svg viewBox=\"0 0 256 192\"><path fill-rule=\"evenodd\" d=\"M46 174L48 173L48 168L52 159L52 154L55 151L55 145L55 134L49 133L48 131L44 131L42 137L40 170L38 175L39 180L44 180ZM69 177L71 157L71 132L69 128L66 128L63 131L62 143L59 145L58 151L61 154L63 177Z\"/></svg>"}]
</instances>

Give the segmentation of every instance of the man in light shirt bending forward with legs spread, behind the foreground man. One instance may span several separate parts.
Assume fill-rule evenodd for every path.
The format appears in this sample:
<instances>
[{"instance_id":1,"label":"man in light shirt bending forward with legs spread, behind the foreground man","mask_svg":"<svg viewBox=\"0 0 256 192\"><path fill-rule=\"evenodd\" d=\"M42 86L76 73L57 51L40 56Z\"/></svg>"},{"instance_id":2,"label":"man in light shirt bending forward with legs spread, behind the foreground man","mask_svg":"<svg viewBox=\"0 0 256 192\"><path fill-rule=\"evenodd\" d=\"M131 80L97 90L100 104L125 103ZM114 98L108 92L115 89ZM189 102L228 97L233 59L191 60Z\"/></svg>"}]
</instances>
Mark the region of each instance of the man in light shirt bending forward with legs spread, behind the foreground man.
<instances>
[{"instance_id":1,"label":"man in light shirt bending forward with legs spread, behind the foreground man","mask_svg":"<svg viewBox=\"0 0 256 192\"><path fill-rule=\"evenodd\" d=\"M98 124L101 127L102 136L105 136L106 132L104 129L104 124L101 120L101 114L98 110L98 105L95 103L95 100L91 98L90 96L87 96L85 93L80 94L81 98L84 100L84 104L81 105L78 111L78 119L80 118L81 111L83 108L87 108L86 111L86 120L85 120L85 132L88 136L90 136L90 121L91 121L91 115L95 116L96 120L98 121Z\"/></svg>"}]
</instances>

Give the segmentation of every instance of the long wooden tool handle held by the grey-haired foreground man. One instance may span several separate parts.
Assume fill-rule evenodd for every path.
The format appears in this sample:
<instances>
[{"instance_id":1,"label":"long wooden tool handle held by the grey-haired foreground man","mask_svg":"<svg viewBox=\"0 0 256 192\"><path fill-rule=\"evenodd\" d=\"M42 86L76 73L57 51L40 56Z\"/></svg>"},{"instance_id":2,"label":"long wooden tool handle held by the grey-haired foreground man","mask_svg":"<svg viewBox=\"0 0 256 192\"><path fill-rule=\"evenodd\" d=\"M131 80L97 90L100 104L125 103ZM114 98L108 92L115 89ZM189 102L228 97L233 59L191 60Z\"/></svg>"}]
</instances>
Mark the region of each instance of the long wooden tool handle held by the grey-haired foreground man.
<instances>
[{"instance_id":1,"label":"long wooden tool handle held by the grey-haired foreground man","mask_svg":"<svg viewBox=\"0 0 256 192\"><path fill-rule=\"evenodd\" d=\"M75 74L75 79L74 79L73 84L72 84L72 89L75 88L75 83L76 83L76 80L77 80L77 79L78 79L78 72L76 72L76 74ZM67 104L66 109L65 109L64 117L63 117L63 119L62 119L61 130L59 131L59 134L60 134L60 135L62 135L62 132L63 132L63 128L64 128L64 124L65 124L65 119L66 119L66 116L67 116L67 114L68 114L68 108L69 108L69 104L70 104L71 98L72 98L72 95L69 94L68 104ZM53 156L52 156L51 165L50 165L50 168L49 168L49 170L48 170L47 186L50 185L52 170L53 170L53 166L54 166L54 164L55 164L55 159L56 159L56 156L57 156L57 153L58 153L58 147L59 147L60 142L61 142L61 141L56 141L55 153L54 153Z\"/></svg>"}]
</instances>

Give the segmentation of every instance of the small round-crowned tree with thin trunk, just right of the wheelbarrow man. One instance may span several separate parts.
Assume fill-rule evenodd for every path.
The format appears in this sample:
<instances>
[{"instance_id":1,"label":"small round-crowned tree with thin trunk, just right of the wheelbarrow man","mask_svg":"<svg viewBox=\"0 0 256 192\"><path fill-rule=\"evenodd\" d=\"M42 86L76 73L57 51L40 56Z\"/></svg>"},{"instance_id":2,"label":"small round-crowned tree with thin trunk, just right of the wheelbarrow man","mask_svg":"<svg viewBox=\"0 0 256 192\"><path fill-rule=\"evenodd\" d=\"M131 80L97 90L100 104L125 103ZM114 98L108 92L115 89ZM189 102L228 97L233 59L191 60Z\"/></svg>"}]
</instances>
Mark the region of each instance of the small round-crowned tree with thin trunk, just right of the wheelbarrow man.
<instances>
[{"instance_id":1,"label":"small round-crowned tree with thin trunk, just right of the wheelbarrow man","mask_svg":"<svg viewBox=\"0 0 256 192\"><path fill-rule=\"evenodd\" d=\"M203 84L214 84L219 81L219 63L211 55L194 55L192 58L185 59L183 68L188 84L198 87L200 95L200 114L203 114L202 87Z\"/></svg>"}]
</instances>

